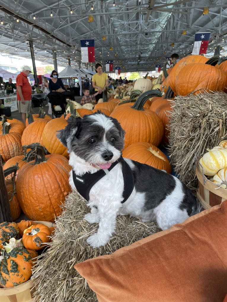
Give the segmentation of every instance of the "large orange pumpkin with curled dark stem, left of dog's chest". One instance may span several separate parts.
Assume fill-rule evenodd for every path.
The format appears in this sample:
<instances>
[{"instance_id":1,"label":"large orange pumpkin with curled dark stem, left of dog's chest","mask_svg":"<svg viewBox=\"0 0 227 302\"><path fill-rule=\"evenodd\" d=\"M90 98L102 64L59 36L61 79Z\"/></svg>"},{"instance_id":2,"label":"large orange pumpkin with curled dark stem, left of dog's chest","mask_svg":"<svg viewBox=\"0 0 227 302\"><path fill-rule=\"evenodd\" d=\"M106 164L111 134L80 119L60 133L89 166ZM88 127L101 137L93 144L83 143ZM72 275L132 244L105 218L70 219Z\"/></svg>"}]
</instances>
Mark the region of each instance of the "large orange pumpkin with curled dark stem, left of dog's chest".
<instances>
[{"instance_id":1,"label":"large orange pumpkin with curled dark stem, left of dog's chest","mask_svg":"<svg viewBox=\"0 0 227 302\"><path fill-rule=\"evenodd\" d=\"M56 119L54 119L56 120ZM60 118L58 118L60 120ZM47 124L48 125L48 124ZM17 198L29 220L54 222L71 192L68 160L60 154L44 155L40 144L31 144L26 160L35 154L35 160L21 169L17 177Z\"/></svg>"}]
</instances>

